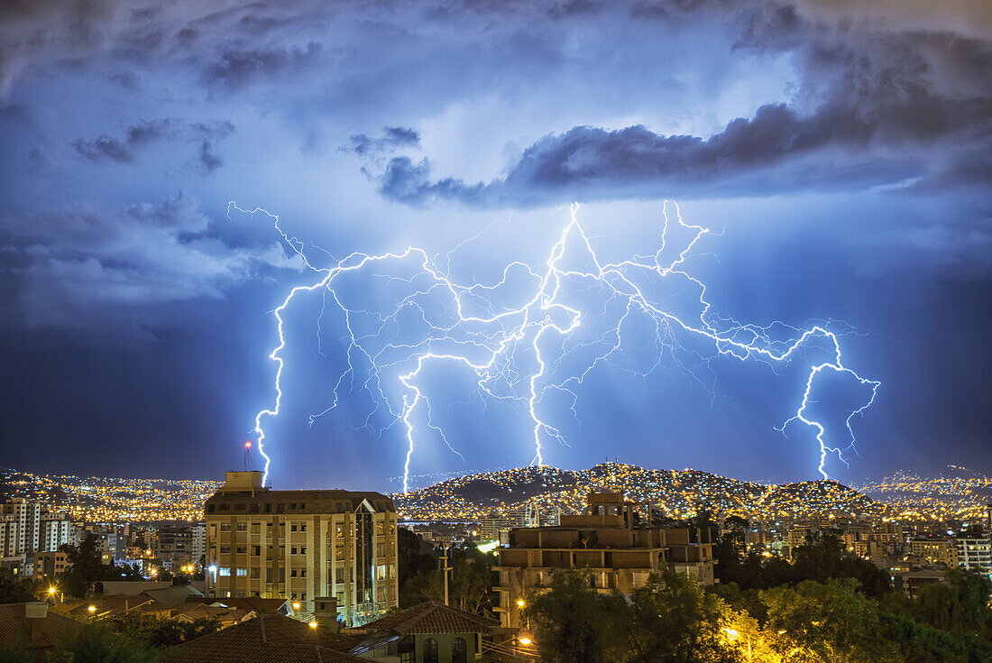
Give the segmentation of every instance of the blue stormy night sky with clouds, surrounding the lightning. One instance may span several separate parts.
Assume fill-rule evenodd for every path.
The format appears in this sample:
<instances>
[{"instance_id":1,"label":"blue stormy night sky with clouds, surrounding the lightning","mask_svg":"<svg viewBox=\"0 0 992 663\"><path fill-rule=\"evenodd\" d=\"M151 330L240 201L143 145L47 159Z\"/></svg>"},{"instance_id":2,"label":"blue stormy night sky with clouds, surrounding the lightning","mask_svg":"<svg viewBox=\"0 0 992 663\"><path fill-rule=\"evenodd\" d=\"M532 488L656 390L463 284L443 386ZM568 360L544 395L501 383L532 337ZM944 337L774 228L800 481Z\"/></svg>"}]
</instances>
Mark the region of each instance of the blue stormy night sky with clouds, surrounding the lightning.
<instances>
[{"instance_id":1,"label":"blue stormy night sky with clouds, surrounding the lightning","mask_svg":"<svg viewBox=\"0 0 992 663\"><path fill-rule=\"evenodd\" d=\"M597 257L654 256L671 199L712 230L681 265L709 320L821 325L882 383L830 476L992 472L990 71L992 6L974 0L4 2L0 464L218 477L275 404L273 311L320 280L310 267L416 246L492 285L548 260L570 202ZM415 272L393 261L335 293L371 333L424 285ZM469 304L534 294L520 270L504 285ZM654 294L698 323L691 285ZM739 361L679 331L659 344L633 315L584 372L616 316L586 286L567 292L580 334L542 340L538 388L582 375L544 392L546 463L819 477L815 432L776 428L822 347ZM371 383L364 359L345 372L334 302L286 309L274 485L399 487L389 406L413 393L395 350L450 320L434 294L366 342L396 362ZM510 392L535 368L515 355ZM480 394L450 361L417 385L412 474L531 463L519 398ZM817 384L829 444L847 446L864 398Z\"/></svg>"}]
</instances>

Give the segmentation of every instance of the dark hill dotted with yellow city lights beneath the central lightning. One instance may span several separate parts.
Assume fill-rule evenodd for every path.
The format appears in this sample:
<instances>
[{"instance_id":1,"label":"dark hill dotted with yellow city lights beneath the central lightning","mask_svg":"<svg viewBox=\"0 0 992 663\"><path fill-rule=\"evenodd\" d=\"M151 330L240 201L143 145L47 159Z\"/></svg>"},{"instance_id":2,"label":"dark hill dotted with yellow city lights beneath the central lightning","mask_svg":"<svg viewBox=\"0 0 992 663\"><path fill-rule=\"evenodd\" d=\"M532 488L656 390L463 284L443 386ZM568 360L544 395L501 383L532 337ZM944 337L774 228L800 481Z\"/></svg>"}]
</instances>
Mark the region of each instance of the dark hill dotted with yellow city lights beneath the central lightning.
<instances>
[{"instance_id":1,"label":"dark hill dotted with yellow city lights beneath the central lightning","mask_svg":"<svg viewBox=\"0 0 992 663\"><path fill-rule=\"evenodd\" d=\"M480 472L392 496L407 518L478 519L528 502L563 513L581 512L586 493L599 490L621 490L628 499L650 502L676 518L701 509L749 518L876 518L890 511L886 504L832 480L765 485L695 469L620 463L579 470L530 466Z\"/></svg>"}]
</instances>

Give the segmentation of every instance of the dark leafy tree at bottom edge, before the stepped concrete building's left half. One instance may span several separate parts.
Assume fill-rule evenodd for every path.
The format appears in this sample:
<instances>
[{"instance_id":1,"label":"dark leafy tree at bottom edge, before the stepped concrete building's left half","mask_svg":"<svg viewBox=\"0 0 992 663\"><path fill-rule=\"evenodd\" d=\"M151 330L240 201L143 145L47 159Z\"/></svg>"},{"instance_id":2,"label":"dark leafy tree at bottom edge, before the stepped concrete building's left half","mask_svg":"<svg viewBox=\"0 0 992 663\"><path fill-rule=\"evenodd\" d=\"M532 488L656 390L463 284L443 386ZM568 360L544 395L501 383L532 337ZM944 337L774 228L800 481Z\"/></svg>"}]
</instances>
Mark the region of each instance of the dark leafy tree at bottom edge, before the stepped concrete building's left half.
<instances>
[{"instance_id":1,"label":"dark leafy tree at bottom edge, before the stepped concrete building's left half","mask_svg":"<svg viewBox=\"0 0 992 663\"><path fill-rule=\"evenodd\" d=\"M573 571L552 577L547 592L532 592L524 616L537 635L547 661L556 663L616 663L625 644L618 639L630 608L619 595L590 589L590 577Z\"/></svg>"}]
</instances>

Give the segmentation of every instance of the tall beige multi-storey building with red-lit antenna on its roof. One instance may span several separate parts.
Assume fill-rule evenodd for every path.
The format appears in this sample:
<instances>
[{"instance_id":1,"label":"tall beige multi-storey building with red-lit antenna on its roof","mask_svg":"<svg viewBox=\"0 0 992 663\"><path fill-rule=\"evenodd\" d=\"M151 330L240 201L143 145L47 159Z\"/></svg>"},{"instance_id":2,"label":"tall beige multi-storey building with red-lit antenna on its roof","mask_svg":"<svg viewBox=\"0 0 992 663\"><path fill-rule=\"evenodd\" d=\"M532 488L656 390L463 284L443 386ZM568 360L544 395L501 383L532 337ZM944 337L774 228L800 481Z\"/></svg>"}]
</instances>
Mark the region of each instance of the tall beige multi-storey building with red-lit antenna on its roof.
<instances>
[{"instance_id":1,"label":"tall beige multi-storey building with red-lit antenna on its roof","mask_svg":"<svg viewBox=\"0 0 992 663\"><path fill-rule=\"evenodd\" d=\"M273 490L260 471L226 472L206 500L207 594L334 597L348 625L399 605L397 521L378 492Z\"/></svg>"}]
</instances>

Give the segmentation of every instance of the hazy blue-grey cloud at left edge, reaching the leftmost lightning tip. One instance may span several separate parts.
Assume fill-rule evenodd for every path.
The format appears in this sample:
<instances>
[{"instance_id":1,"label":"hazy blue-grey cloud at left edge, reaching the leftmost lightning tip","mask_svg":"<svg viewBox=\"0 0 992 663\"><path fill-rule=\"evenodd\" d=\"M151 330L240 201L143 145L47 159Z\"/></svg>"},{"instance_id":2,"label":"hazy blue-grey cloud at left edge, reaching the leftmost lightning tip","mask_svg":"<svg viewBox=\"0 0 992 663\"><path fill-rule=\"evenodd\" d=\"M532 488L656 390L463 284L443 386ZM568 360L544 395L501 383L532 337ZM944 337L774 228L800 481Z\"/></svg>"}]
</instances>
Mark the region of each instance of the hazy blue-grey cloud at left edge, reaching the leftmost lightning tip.
<instances>
[{"instance_id":1,"label":"hazy blue-grey cloud at left edge, reaching the leftmost lightning tip","mask_svg":"<svg viewBox=\"0 0 992 663\"><path fill-rule=\"evenodd\" d=\"M223 297L263 264L297 267L271 246L229 246L209 224L198 199L180 193L158 204L79 203L0 218L0 244L28 326L144 337L145 323L161 322L151 305Z\"/></svg>"}]
</instances>

